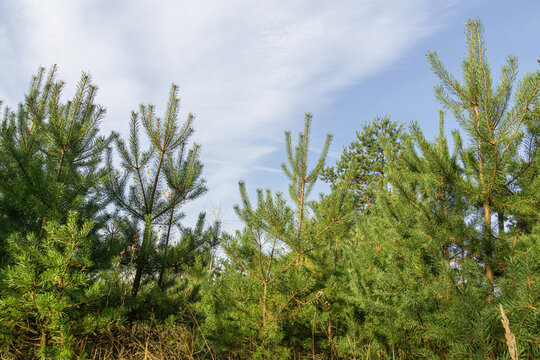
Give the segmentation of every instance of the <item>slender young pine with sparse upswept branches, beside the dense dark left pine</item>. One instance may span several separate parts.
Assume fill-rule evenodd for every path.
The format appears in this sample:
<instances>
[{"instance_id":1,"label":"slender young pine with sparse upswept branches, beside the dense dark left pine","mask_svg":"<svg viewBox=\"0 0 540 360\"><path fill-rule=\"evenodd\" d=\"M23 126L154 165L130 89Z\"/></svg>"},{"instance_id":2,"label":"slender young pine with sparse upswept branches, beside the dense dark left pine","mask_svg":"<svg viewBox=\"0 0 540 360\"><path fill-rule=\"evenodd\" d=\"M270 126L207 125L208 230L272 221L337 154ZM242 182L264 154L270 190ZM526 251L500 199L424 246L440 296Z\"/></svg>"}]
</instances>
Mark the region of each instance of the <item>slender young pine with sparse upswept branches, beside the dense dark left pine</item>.
<instances>
[{"instance_id":1,"label":"slender young pine with sparse upswept branches, beside the dense dark left pine","mask_svg":"<svg viewBox=\"0 0 540 360\"><path fill-rule=\"evenodd\" d=\"M139 112L132 112L130 137L126 143L117 139L116 147L122 161L123 172L106 184L115 205L129 214L135 224L141 224L142 237L137 240L135 255L136 273L133 280L132 296L139 291L143 274L159 273L160 285L166 267L160 261L150 261L155 257L158 237L160 247L168 251L171 230L183 217L180 211L186 202L196 199L206 192L205 181L201 178L202 164L198 160L199 145L186 151L193 116L178 123L178 88L171 87L167 111L163 119L156 117L153 105L141 105ZM142 122L150 142L147 151L141 149L139 135ZM109 156L109 169L113 169Z\"/></svg>"}]
</instances>

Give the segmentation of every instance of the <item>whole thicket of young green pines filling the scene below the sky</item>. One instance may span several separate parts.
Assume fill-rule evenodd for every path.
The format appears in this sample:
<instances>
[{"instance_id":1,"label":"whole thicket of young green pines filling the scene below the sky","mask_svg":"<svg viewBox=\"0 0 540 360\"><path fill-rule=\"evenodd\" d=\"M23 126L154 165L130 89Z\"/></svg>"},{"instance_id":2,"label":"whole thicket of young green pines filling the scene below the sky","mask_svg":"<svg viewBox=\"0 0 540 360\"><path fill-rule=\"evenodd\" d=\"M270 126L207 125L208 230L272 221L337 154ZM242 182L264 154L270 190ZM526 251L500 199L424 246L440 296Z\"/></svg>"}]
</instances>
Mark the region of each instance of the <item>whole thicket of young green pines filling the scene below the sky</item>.
<instances>
[{"instance_id":1,"label":"whole thicket of young green pines filling the scene below the sky","mask_svg":"<svg viewBox=\"0 0 540 360\"><path fill-rule=\"evenodd\" d=\"M182 223L207 189L176 86L122 139L88 75L62 102L40 70L0 128L0 356L540 358L540 71L497 83L478 21L466 41L462 79L427 54L435 140L377 117L325 167L308 114L288 194L240 182L235 234Z\"/></svg>"}]
</instances>

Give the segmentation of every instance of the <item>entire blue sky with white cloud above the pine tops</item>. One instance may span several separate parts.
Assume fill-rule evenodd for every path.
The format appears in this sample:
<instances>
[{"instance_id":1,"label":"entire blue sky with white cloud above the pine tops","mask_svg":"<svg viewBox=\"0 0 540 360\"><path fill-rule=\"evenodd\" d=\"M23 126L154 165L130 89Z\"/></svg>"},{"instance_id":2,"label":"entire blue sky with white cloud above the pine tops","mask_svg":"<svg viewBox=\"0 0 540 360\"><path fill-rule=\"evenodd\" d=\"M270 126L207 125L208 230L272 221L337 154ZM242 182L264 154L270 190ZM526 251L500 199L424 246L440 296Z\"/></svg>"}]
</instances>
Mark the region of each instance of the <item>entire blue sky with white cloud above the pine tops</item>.
<instances>
[{"instance_id":1,"label":"entire blue sky with white cloud above the pine tops","mask_svg":"<svg viewBox=\"0 0 540 360\"><path fill-rule=\"evenodd\" d=\"M286 192L283 131L299 131L305 112L314 114L313 158L334 134L328 163L375 115L417 120L433 137L439 106L426 51L459 75L464 23L480 18L494 69L512 54L520 74L534 71L539 15L537 0L2 0L0 99L16 105L40 65L58 64L66 94L86 71L107 108L102 130L125 134L131 110L145 102L163 112L179 84L209 187L186 208L186 225L207 211L231 230L238 180L251 192Z\"/></svg>"}]
</instances>

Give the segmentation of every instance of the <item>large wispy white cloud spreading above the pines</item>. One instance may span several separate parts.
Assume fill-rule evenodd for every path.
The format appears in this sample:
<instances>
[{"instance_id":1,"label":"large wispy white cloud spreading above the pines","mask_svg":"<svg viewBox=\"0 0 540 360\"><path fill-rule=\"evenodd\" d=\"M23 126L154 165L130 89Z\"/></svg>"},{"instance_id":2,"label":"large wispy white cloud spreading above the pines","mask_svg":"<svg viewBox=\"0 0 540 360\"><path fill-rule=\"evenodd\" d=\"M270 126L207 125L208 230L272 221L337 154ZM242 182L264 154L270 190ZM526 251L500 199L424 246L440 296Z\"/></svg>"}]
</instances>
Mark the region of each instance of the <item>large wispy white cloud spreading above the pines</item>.
<instances>
[{"instance_id":1,"label":"large wispy white cloud spreading above the pines","mask_svg":"<svg viewBox=\"0 0 540 360\"><path fill-rule=\"evenodd\" d=\"M230 215L237 181L265 170L291 114L399 59L440 23L446 1L11 1L0 15L0 96L38 65L59 65L70 93L81 71L100 87L105 131L125 133L140 102L163 109L172 81L197 115L210 192ZM9 59L5 55L9 54ZM8 84L8 85L5 85ZM7 100L15 101L19 98ZM294 119L301 122L302 119ZM276 166L279 162L276 163Z\"/></svg>"}]
</instances>

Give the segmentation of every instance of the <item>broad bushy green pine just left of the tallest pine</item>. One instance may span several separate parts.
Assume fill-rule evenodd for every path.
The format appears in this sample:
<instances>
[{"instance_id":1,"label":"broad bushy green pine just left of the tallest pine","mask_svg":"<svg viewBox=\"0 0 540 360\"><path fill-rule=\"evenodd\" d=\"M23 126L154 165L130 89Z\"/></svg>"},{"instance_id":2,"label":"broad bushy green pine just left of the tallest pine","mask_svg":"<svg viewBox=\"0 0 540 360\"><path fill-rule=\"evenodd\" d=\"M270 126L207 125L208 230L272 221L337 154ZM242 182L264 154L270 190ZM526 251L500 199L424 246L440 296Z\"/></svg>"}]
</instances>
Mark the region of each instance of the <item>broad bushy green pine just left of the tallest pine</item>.
<instances>
[{"instance_id":1,"label":"broad bushy green pine just left of the tallest pine","mask_svg":"<svg viewBox=\"0 0 540 360\"><path fill-rule=\"evenodd\" d=\"M390 165L392 193L379 193L359 233L360 255L349 255L349 302L363 319L363 331L356 334L360 345L373 339L371 346L388 355L439 358L449 346L445 338L451 338L448 328L437 327L451 320L440 310L451 302L456 282L450 262L476 232L467 227L470 208L457 186L462 170L446 144L442 118L435 143L417 125L410 135L399 166ZM484 288L480 301L486 296Z\"/></svg>"}]
</instances>

